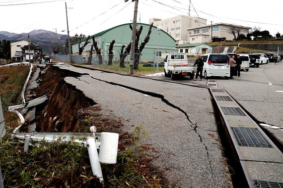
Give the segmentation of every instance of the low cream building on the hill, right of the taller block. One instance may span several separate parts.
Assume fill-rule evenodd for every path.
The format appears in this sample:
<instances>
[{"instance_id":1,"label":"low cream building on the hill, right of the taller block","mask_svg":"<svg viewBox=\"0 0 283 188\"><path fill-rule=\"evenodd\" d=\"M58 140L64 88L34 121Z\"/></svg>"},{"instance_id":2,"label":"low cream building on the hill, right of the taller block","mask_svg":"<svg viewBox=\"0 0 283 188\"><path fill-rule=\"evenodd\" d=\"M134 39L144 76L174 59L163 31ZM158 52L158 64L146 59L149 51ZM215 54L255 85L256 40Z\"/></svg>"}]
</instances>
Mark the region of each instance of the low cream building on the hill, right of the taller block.
<instances>
[{"instance_id":1,"label":"low cream building on the hill, right of the taller block","mask_svg":"<svg viewBox=\"0 0 283 188\"><path fill-rule=\"evenodd\" d=\"M234 40L234 35L231 34L231 28L241 29L240 34L247 35L250 27L240 25L232 25L226 23L217 23L212 25L203 25L198 27L187 28L188 30L188 43L210 43L212 38L225 38L225 40ZM236 33L236 36L238 34Z\"/></svg>"}]
</instances>

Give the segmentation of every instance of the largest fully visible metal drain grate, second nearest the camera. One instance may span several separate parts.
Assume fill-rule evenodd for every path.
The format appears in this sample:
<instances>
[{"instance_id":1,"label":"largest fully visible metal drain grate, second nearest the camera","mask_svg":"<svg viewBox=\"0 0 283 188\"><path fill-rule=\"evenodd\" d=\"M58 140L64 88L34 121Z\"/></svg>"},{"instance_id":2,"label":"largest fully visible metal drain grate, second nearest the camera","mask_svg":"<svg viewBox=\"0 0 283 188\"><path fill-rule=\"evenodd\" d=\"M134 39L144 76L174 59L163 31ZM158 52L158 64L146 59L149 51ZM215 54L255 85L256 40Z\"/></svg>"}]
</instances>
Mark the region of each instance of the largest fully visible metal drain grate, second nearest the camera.
<instances>
[{"instance_id":1,"label":"largest fully visible metal drain grate, second nearest the camera","mask_svg":"<svg viewBox=\"0 0 283 188\"><path fill-rule=\"evenodd\" d=\"M232 127L232 130L239 146L273 147L257 129Z\"/></svg>"}]
</instances>

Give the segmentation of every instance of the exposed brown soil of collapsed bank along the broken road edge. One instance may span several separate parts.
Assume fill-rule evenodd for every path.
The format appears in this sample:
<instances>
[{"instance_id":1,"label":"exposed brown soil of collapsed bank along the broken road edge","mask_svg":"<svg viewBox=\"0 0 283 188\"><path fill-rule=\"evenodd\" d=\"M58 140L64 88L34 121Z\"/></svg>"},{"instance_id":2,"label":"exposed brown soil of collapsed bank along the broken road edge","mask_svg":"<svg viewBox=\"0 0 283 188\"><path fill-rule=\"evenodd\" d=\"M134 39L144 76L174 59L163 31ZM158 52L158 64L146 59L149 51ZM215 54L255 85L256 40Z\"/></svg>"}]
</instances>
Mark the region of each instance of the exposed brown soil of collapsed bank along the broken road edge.
<instances>
[{"instance_id":1,"label":"exposed brown soil of collapsed bank along the broken road edge","mask_svg":"<svg viewBox=\"0 0 283 188\"><path fill-rule=\"evenodd\" d=\"M99 104L65 83L63 78L67 76L78 75L51 66L46 73L39 76L39 80L42 81L39 87L32 92L36 94L36 97L46 94L49 100L40 118L37 117L37 125L42 125L37 130L40 132L89 132L89 127L94 125L97 132L119 133L118 151L123 152L127 147L131 147L135 135L128 132L122 133L119 129L124 126L123 122L127 120L106 115ZM107 114L111 114L111 112ZM141 150L149 148L150 146L147 145ZM154 157L148 157L150 158L140 158L135 161L136 165L133 165L132 168L143 175L144 184L161 187L160 178L162 175L149 163ZM163 179L163 184L164 181Z\"/></svg>"}]
</instances>

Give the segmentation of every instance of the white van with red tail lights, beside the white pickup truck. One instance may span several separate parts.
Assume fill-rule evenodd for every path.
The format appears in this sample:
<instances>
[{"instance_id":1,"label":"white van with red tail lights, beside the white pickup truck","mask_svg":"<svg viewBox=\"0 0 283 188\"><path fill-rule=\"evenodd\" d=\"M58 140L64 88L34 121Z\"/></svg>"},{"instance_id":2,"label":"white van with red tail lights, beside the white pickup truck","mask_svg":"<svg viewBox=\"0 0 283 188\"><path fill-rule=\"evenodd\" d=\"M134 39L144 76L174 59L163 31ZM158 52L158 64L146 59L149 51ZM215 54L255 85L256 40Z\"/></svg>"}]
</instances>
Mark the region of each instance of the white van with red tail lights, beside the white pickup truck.
<instances>
[{"instance_id":1,"label":"white van with red tail lights, beside the white pickup truck","mask_svg":"<svg viewBox=\"0 0 283 188\"><path fill-rule=\"evenodd\" d=\"M203 75L205 79L211 76L230 77L230 63L227 54L209 53L203 54L204 61Z\"/></svg>"}]
</instances>

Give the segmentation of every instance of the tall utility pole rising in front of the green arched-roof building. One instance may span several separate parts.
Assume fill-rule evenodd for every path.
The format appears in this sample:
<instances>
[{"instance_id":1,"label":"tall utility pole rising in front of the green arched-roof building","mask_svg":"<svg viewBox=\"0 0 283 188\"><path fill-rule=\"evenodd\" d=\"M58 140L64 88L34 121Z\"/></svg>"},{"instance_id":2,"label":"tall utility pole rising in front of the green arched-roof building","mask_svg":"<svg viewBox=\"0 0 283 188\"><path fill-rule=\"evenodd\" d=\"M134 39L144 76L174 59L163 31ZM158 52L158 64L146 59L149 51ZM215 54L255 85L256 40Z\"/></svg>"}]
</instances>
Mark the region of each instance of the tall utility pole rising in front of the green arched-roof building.
<instances>
[{"instance_id":1,"label":"tall utility pole rising in front of the green arched-roof building","mask_svg":"<svg viewBox=\"0 0 283 188\"><path fill-rule=\"evenodd\" d=\"M126 0L125 0L125 2L126 2ZM129 72L129 74L134 73L134 57L135 57L135 44L136 44L138 2L139 2L138 0L135 0L133 32L132 32L131 51L130 51L130 72Z\"/></svg>"}]
</instances>

